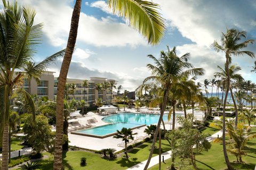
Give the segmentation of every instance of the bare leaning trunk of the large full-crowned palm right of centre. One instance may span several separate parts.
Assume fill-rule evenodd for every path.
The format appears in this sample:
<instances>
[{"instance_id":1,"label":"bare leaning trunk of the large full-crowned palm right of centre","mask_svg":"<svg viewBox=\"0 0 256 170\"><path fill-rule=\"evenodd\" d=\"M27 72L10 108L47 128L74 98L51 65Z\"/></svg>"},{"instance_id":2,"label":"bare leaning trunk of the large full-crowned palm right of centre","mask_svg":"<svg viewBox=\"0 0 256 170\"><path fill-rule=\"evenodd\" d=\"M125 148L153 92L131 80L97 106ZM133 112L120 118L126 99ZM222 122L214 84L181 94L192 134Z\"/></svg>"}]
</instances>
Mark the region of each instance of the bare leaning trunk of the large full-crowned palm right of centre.
<instances>
[{"instance_id":1,"label":"bare leaning trunk of the large full-crowned palm right of centre","mask_svg":"<svg viewBox=\"0 0 256 170\"><path fill-rule=\"evenodd\" d=\"M165 111L165 107L166 107L166 103L167 103L167 94L168 94L168 91L165 91L164 96L163 96L163 99L164 99L163 100L163 107L161 109L161 114L159 116L159 120L158 120L158 123L157 123L157 126L156 126L156 132L155 132L155 135L154 135L154 138L153 138L152 146L151 146L150 153L149 153L149 156L148 156L148 160L147 160L147 163L144 167L144 170L147 170L148 165L149 165L150 160L151 160L152 155L153 155L153 151L154 151L154 147L155 147L155 143L156 143L156 138L157 138L157 133L160 129L161 121L163 119L163 115L164 115L164 111Z\"/></svg>"}]
</instances>

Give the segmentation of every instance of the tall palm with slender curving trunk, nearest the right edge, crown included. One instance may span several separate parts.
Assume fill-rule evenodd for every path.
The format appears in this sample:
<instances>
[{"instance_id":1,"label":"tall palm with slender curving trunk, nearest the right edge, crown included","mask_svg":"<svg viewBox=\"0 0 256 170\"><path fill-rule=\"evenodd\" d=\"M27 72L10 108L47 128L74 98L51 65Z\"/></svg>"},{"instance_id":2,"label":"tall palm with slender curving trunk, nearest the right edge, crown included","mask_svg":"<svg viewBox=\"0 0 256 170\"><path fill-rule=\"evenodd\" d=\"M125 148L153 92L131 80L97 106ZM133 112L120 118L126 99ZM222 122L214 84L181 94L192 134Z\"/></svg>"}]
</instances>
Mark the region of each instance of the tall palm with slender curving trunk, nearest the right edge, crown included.
<instances>
[{"instance_id":1,"label":"tall palm with slender curving trunk, nearest the right edge, crown included","mask_svg":"<svg viewBox=\"0 0 256 170\"><path fill-rule=\"evenodd\" d=\"M222 32L221 35L221 44L214 40L214 43L211 45L217 52L225 53L226 57L226 72L227 72L227 82L226 82L226 95L223 103L223 129L225 129L225 109L228 98L228 91L230 88L230 74L229 74L229 65L231 63L231 55L249 55L250 57L254 57L254 53L250 51L245 51L243 48L246 48L249 43L253 43L254 40L248 39L242 41L242 38L246 38L246 31L239 31L236 29L227 29L226 33ZM222 133L222 142L223 142L223 154L225 157L225 161L228 169L233 169L228 159L227 149L226 149L226 139L225 139L225 131Z\"/></svg>"}]
</instances>

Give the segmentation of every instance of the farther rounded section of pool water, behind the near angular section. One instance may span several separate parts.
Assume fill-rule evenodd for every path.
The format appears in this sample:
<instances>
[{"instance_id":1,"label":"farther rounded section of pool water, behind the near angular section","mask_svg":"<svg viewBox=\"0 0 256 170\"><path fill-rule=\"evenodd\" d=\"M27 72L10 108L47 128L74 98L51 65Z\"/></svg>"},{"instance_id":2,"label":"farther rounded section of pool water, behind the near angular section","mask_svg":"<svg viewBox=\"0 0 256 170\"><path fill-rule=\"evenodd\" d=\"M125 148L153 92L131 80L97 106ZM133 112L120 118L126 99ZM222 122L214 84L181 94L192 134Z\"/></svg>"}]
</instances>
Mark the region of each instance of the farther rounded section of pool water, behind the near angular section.
<instances>
[{"instance_id":1,"label":"farther rounded section of pool water, behind the near angular section","mask_svg":"<svg viewBox=\"0 0 256 170\"><path fill-rule=\"evenodd\" d=\"M154 114L140 114L140 113L120 113L116 115L110 115L102 118L102 121L106 123L135 123L135 124L155 124L158 122L160 115ZM163 120L167 121L167 114L164 114Z\"/></svg>"}]
</instances>

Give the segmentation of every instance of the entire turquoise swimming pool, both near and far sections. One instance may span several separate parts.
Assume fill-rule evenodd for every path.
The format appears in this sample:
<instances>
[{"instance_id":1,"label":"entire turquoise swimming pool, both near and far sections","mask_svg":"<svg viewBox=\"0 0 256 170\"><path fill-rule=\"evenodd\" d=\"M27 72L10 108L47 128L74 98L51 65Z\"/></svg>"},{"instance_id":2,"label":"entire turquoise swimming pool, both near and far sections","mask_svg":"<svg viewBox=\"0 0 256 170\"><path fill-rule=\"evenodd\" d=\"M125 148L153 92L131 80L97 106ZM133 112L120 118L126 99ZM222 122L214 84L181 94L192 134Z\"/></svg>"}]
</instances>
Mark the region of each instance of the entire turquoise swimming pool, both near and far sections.
<instances>
[{"instance_id":1,"label":"entire turquoise swimming pool, both near and far sections","mask_svg":"<svg viewBox=\"0 0 256 170\"><path fill-rule=\"evenodd\" d=\"M102 121L110 124L78 130L71 133L89 137L106 138L117 134L116 130L120 131L122 128L135 129L145 125L155 124L158 122L159 116L160 115L155 114L124 112L102 118ZM164 114L163 120L167 121L167 114Z\"/></svg>"}]
</instances>

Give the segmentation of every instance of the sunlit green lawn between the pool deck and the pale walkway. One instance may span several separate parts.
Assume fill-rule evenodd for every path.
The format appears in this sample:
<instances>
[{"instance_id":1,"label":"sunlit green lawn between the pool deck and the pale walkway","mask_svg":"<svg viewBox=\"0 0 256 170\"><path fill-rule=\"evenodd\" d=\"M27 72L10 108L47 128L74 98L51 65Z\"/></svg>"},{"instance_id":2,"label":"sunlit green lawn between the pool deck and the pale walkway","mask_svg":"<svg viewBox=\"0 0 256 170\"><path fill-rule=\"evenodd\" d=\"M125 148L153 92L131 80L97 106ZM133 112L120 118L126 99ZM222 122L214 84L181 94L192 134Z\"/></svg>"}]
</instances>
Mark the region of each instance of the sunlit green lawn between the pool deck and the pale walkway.
<instances>
[{"instance_id":1,"label":"sunlit green lawn between the pool deck and the pale walkway","mask_svg":"<svg viewBox=\"0 0 256 170\"><path fill-rule=\"evenodd\" d=\"M140 162L146 160L149 155L151 142L145 142L140 147L134 148L129 152L129 159L126 159L124 154L115 160L108 160L101 158L102 155L94 154L86 151L68 151L63 153L63 165L65 169L127 169ZM156 144L158 146L158 143ZM169 144L166 140L162 140L162 152L170 150ZM156 156L158 149L154 150L154 155ZM52 169L53 166L53 156L50 154L46 155L49 158L39 161L41 164L41 169ZM80 159L85 157L87 165L85 167L80 166Z\"/></svg>"}]
</instances>

